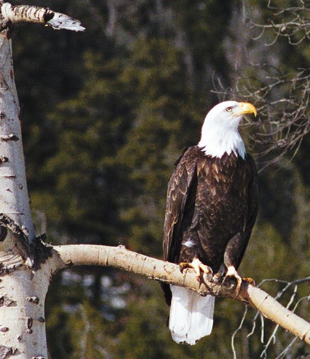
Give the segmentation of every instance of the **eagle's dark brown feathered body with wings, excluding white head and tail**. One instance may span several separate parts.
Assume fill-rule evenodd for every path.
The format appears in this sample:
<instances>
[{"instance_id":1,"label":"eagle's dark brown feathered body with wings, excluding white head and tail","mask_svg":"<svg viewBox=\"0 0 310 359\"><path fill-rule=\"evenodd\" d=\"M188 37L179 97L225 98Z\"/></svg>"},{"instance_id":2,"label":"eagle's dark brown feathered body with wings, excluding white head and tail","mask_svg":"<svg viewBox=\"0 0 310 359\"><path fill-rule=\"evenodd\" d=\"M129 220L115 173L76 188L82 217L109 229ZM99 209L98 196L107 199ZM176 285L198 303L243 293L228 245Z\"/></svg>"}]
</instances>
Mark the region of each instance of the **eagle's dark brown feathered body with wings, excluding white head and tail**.
<instances>
[{"instance_id":1,"label":"eagle's dark brown feathered body with wings, excluding white head and tail","mask_svg":"<svg viewBox=\"0 0 310 359\"><path fill-rule=\"evenodd\" d=\"M258 208L253 158L226 152L205 155L198 146L185 150L168 185L163 229L164 259L192 262L196 257L213 272L238 268ZM168 304L171 291L163 285Z\"/></svg>"}]
</instances>

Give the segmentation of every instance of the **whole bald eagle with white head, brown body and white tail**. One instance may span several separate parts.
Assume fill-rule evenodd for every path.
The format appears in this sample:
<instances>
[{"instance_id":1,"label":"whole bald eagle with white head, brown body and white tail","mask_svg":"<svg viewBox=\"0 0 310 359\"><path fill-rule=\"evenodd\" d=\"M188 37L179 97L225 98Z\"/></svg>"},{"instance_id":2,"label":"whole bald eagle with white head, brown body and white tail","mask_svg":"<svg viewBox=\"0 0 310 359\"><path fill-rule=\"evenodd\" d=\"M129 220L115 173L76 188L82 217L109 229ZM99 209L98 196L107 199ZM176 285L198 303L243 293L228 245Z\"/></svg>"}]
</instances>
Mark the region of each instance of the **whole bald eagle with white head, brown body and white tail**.
<instances>
[{"instance_id":1,"label":"whole bald eagle with white head, brown body and white tail","mask_svg":"<svg viewBox=\"0 0 310 359\"><path fill-rule=\"evenodd\" d=\"M257 170L238 125L250 103L226 101L206 115L197 146L186 149L169 181L163 228L164 259L217 278L234 276L258 210ZM215 278L215 277L213 277ZM195 344L213 326L214 296L162 284L177 343Z\"/></svg>"}]
</instances>

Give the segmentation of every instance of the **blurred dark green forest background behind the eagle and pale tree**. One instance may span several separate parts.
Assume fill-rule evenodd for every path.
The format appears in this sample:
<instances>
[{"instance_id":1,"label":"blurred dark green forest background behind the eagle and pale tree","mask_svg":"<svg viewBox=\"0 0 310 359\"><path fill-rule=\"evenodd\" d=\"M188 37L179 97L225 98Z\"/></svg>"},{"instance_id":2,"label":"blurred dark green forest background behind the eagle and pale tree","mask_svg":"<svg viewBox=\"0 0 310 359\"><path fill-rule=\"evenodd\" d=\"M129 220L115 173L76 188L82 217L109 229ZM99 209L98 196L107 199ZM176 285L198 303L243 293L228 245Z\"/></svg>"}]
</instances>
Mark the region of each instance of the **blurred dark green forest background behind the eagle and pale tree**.
<instances>
[{"instance_id":1,"label":"blurred dark green forest background behind the eagle and pale tree","mask_svg":"<svg viewBox=\"0 0 310 359\"><path fill-rule=\"evenodd\" d=\"M253 64L260 81L267 67L281 73L310 67L307 38L295 46L285 36L266 46L272 32L254 39L251 25L271 16L267 1L28 3L86 27L71 33L21 25L13 36L31 207L37 234L46 232L53 244L124 244L161 258L168 179L182 149L198 142L206 112L219 99L242 101L236 79L255 77ZM219 88L231 88L230 97L212 92ZM259 109L259 99L248 95ZM268 93L269 103L276 95ZM259 124L270 120L263 114ZM259 152L251 139L255 123L242 131L252 153ZM240 272L258 283L277 278L263 285L273 295L285 286L281 281L309 274L309 151L305 136L294 158L288 152L260 172L259 218ZM256 157L263 168L265 159ZM307 284L288 289L280 301L286 305L294 290L291 307L298 303L309 321L308 300L298 302L309 295ZM193 347L171 340L168 312L154 281L109 268L68 269L48 295L49 350L53 359L233 357L232 335L244 312L239 302L217 300L212 335ZM294 337L281 328L263 352L274 328L249 309L234 336L235 357L310 352L299 340L287 348Z\"/></svg>"}]
</instances>

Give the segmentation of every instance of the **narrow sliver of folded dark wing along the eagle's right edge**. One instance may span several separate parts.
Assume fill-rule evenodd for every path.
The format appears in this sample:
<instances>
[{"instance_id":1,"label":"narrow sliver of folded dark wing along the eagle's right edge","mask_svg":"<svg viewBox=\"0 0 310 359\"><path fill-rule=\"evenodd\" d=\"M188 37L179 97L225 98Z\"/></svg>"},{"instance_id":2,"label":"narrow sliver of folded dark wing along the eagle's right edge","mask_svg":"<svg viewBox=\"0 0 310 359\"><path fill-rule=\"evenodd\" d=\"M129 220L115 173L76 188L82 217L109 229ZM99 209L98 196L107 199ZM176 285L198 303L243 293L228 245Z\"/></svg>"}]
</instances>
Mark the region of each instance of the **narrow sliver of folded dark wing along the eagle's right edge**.
<instances>
[{"instance_id":1,"label":"narrow sliver of folded dark wing along the eagle's right edge","mask_svg":"<svg viewBox=\"0 0 310 359\"><path fill-rule=\"evenodd\" d=\"M236 269L239 267L242 257L244 255L245 249L247 244L249 243L251 232L253 226L256 221L256 216L258 212L258 202L259 202L259 195L258 195L258 174L255 165L255 161L250 154L246 154L246 162L249 165L249 173L251 175L250 182L249 182L249 202L247 205L247 220L244 226L244 245L242 248L242 252L240 253L239 263L236 266Z\"/></svg>"}]
</instances>

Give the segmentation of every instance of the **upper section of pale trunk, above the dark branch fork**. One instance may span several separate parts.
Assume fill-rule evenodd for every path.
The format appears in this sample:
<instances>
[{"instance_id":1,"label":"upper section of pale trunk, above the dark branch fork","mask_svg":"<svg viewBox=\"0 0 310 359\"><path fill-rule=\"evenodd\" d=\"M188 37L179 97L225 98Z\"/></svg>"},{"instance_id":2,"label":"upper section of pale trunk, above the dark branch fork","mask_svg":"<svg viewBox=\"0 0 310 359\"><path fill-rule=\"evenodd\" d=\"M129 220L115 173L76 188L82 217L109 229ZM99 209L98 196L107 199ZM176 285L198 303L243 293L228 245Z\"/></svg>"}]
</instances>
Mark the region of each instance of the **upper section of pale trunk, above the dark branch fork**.
<instances>
[{"instance_id":1,"label":"upper section of pale trunk, above the dark branch fork","mask_svg":"<svg viewBox=\"0 0 310 359\"><path fill-rule=\"evenodd\" d=\"M0 36L0 212L33 240L11 42Z\"/></svg>"}]
</instances>

